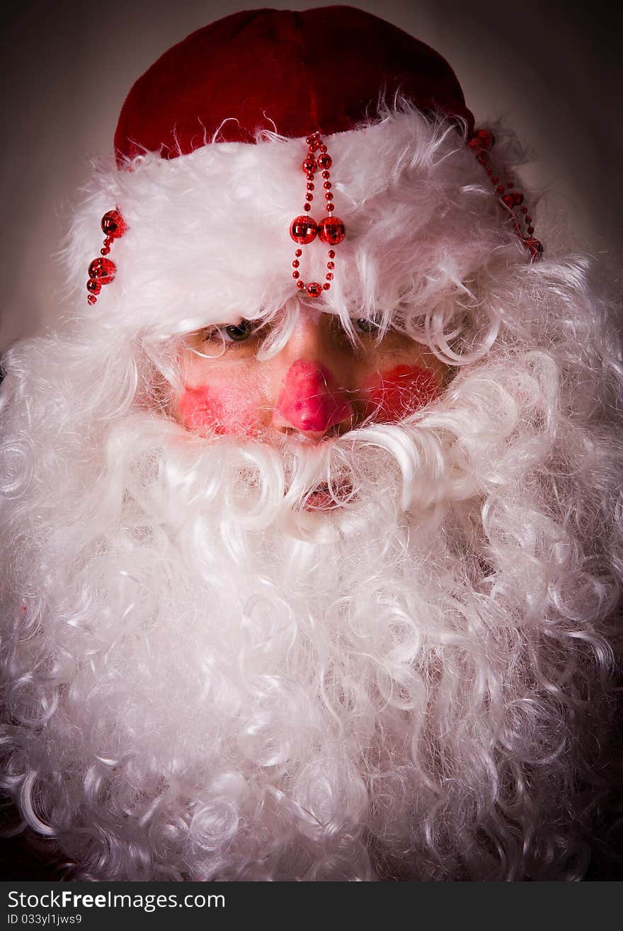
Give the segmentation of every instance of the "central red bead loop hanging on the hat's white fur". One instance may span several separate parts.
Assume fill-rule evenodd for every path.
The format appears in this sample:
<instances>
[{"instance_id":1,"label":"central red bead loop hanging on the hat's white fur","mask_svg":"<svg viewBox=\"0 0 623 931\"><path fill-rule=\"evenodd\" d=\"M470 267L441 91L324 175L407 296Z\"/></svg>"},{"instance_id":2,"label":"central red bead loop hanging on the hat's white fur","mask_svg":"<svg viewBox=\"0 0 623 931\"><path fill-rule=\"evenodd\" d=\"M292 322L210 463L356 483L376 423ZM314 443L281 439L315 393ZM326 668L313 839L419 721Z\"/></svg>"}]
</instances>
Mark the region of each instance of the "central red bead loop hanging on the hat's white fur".
<instances>
[{"instance_id":1,"label":"central red bead loop hanging on the hat's white fur","mask_svg":"<svg viewBox=\"0 0 623 931\"><path fill-rule=\"evenodd\" d=\"M341 243L345 238L346 228L345 223L340 220L339 217L332 216L332 211L335 209L335 205L332 203L334 197L331 191L332 183L329 181L331 178L331 171L329 169L332 167L332 157L328 154L327 146L322 142L319 132L311 133L311 135L307 136L305 142L307 144L307 155L305 156L302 169L307 179L307 193L305 194L303 209L306 211L311 210L311 204L314 199L312 192L315 190L314 178L316 172L322 169L321 177L324 179L322 188L323 191L326 192L325 209L329 215L320 220L319 223L316 223L309 215L305 216L305 214L303 214L295 217L290 224L290 236L294 242L302 246L309 245L316 236L329 246L337 246L338 243ZM315 155L316 152L319 154ZM296 280L296 287L299 290L305 290L308 297L318 298L323 290L329 290L331 288L331 281L333 278L331 272L326 275L324 284L319 284L318 281L305 284L305 281L301 279L300 272L298 271L300 264L298 259L303 254L303 250L297 249L294 254L296 255L296 259L292 262L292 267L295 271L292 272L292 277ZM335 251L330 250L329 259L333 260L334 258ZM333 269L334 267L335 263L332 261L327 263L327 268Z\"/></svg>"}]
</instances>

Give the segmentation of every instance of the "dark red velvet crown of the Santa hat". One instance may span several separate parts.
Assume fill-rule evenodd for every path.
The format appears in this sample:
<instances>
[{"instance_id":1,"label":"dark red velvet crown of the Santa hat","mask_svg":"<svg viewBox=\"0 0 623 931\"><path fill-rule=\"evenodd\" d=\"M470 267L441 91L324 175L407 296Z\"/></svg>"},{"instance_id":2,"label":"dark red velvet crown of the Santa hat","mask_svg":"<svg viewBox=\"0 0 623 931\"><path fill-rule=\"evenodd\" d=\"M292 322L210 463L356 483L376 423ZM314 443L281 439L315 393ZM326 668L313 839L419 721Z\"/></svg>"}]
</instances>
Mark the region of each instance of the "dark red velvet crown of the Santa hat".
<instances>
[{"instance_id":1,"label":"dark red velvet crown of the Santa hat","mask_svg":"<svg viewBox=\"0 0 623 931\"><path fill-rule=\"evenodd\" d=\"M188 35L136 81L115 132L117 163L255 142L262 129L344 132L399 94L473 128L448 62L391 23L354 7L244 10Z\"/></svg>"}]
</instances>

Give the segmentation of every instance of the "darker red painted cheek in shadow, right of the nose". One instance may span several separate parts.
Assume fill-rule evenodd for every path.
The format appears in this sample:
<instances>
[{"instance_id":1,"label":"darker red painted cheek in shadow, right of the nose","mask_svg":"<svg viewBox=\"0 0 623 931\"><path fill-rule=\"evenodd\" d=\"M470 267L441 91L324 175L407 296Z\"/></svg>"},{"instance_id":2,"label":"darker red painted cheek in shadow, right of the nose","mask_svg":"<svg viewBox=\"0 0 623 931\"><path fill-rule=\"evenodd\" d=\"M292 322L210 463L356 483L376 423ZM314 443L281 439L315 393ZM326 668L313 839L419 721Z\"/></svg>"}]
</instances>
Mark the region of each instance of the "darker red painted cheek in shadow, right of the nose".
<instances>
[{"instance_id":1,"label":"darker red painted cheek in shadow, right of the nose","mask_svg":"<svg viewBox=\"0 0 623 931\"><path fill-rule=\"evenodd\" d=\"M386 424L398 423L440 396L433 372L417 365L375 371L364 382L363 391L366 417Z\"/></svg>"}]
</instances>

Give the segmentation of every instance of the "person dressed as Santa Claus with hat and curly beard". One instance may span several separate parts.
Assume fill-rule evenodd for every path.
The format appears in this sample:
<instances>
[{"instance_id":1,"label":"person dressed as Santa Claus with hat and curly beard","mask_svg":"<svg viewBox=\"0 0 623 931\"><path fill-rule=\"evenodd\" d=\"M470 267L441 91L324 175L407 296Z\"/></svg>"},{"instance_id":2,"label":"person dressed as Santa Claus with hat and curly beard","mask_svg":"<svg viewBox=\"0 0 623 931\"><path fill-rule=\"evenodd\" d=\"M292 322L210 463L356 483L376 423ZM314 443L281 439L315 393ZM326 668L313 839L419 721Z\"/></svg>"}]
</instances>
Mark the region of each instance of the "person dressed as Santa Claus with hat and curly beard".
<instances>
[{"instance_id":1,"label":"person dressed as Santa Claus with hat and curly beard","mask_svg":"<svg viewBox=\"0 0 623 931\"><path fill-rule=\"evenodd\" d=\"M517 142L324 7L188 36L115 154L71 320L3 359L24 824L83 879L582 877L616 788L620 318L541 257Z\"/></svg>"}]
</instances>

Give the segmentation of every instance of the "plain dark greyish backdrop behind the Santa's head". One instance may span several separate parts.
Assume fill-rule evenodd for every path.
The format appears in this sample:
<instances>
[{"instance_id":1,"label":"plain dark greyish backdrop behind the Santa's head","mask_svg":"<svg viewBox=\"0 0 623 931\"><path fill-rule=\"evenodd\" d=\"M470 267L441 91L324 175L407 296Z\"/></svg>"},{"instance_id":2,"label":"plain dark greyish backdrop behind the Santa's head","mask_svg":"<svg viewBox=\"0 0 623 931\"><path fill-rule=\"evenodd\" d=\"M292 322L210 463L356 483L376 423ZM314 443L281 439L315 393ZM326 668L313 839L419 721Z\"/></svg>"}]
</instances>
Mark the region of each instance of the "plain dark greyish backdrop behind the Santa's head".
<instances>
[{"instance_id":1,"label":"plain dark greyish backdrop behind the Santa's head","mask_svg":"<svg viewBox=\"0 0 623 931\"><path fill-rule=\"evenodd\" d=\"M527 182L578 248L620 260L621 19L599 2L362 0L451 62L484 124L502 116L534 152ZM62 313L61 263L88 157L112 149L133 81L184 35L257 4L221 0L88 0L12 5L3 14L0 348ZM275 4L305 9L312 2ZM339 49L336 49L339 54ZM537 216L539 214L537 213ZM539 229L537 223L536 235Z\"/></svg>"}]
</instances>

